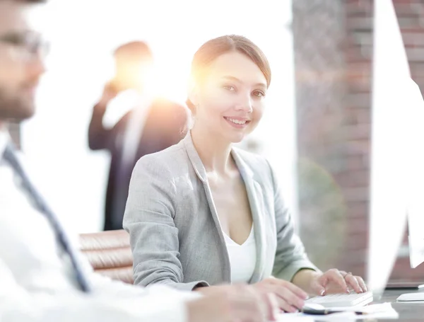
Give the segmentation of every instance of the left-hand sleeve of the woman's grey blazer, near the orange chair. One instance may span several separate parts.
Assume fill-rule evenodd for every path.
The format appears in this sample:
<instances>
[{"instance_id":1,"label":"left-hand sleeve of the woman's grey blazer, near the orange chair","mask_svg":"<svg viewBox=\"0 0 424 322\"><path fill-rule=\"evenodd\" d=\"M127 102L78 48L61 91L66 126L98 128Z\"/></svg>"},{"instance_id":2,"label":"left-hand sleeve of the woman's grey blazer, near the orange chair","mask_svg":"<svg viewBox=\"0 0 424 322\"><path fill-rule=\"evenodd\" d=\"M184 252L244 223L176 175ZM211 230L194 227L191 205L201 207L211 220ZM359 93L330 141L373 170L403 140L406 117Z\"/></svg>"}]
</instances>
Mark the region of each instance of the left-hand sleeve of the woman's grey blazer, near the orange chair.
<instances>
[{"instance_id":1,"label":"left-hand sleeve of the woman's grey blazer, near the orange chair","mask_svg":"<svg viewBox=\"0 0 424 322\"><path fill-rule=\"evenodd\" d=\"M133 171L124 214L134 256L134 284L167 284L183 290L208 286L184 283L174 223L177 189L165 161L143 156Z\"/></svg>"}]
</instances>

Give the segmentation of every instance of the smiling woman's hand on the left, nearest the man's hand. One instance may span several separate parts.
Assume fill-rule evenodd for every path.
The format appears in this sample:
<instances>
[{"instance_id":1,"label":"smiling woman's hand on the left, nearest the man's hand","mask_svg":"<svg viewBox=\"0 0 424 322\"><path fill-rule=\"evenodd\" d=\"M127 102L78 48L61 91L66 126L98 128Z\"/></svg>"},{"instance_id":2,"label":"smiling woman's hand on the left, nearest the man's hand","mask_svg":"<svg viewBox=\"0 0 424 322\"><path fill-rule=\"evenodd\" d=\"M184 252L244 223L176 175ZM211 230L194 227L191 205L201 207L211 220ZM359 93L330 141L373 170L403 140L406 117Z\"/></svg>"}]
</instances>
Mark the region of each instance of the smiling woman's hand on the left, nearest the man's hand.
<instances>
[{"instance_id":1,"label":"smiling woman's hand on the left, nearest the man's hand","mask_svg":"<svg viewBox=\"0 0 424 322\"><path fill-rule=\"evenodd\" d=\"M307 299L307 293L300 287L285 280L267 278L253 285L259 292L264 294L275 294L278 307L285 311L294 313L302 309Z\"/></svg>"}]
</instances>

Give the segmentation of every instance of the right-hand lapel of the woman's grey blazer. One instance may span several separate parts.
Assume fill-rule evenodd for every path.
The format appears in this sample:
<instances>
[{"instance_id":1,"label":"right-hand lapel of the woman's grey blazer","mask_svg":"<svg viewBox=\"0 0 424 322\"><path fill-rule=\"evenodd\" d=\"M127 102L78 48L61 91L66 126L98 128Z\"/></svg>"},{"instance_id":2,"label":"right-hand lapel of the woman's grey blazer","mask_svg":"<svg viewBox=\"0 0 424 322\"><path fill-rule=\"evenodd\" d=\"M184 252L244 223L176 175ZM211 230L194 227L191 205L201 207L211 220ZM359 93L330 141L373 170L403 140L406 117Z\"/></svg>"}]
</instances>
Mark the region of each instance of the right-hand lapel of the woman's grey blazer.
<instances>
[{"instance_id":1,"label":"right-hand lapel of the woman's grey blazer","mask_svg":"<svg viewBox=\"0 0 424 322\"><path fill-rule=\"evenodd\" d=\"M232 158L237 164L237 168L240 171L243 181L245 182L247 197L249 199L250 210L252 212L252 219L254 224L254 238L256 240L257 247L257 263L250 280L250 283L259 282L264 276L265 268L265 232L264 225L262 223L261 214L264 213L263 202L260 199L262 196L261 185L254 180L254 175L252 170L247 166L245 161L243 161L237 151L232 149L231 151Z\"/></svg>"}]
</instances>

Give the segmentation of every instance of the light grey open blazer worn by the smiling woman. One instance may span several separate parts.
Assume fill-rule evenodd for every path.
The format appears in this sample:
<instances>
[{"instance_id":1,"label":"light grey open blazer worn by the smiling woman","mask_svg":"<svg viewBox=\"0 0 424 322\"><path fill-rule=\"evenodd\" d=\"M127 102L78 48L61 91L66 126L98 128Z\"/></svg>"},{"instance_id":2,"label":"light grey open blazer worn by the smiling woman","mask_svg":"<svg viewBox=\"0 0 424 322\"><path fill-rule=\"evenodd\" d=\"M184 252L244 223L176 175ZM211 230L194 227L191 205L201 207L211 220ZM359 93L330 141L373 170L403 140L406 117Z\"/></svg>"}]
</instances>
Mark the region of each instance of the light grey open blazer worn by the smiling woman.
<instances>
[{"instance_id":1,"label":"light grey open blazer worn by the smiling woman","mask_svg":"<svg viewBox=\"0 0 424 322\"><path fill-rule=\"evenodd\" d=\"M257 264L250 283L271 275L292 280L308 260L275 175L261 156L233 148L252 211ZM206 170L191 134L143 156L129 185L124 214L134 255L134 284L191 290L230 283L230 260Z\"/></svg>"}]
</instances>

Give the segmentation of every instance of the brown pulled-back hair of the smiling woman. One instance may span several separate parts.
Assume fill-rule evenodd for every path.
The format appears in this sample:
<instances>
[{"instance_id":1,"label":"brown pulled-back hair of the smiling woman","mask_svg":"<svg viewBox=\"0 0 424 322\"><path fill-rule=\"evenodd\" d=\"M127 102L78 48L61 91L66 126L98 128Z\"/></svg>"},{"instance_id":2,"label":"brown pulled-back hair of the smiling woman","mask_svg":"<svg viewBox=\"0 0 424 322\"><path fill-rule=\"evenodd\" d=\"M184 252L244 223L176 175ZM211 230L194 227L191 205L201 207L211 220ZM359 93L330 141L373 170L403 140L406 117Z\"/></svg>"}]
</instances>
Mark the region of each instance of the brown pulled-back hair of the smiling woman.
<instances>
[{"instance_id":1,"label":"brown pulled-back hair of the smiling woman","mask_svg":"<svg viewBox=\"0 0 424 322\"><path fill-rule=\"evenodd\" d=\"M227 52L240 52L254 62L261 69L266 79L266 85L271 84L271 67L268 59L260 48L251 40L240 35L225 35L208 40L201 45L192 60L191 76L196 83L201 83L208 74L208 67L212 62ZM187 107L194 113L195 106L187 99Z\"/></svg>"}]
</instances>

